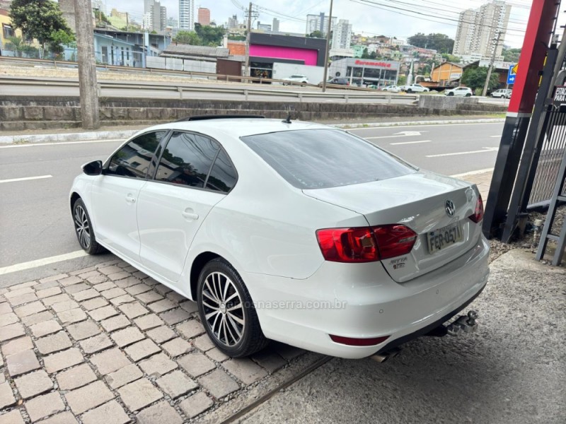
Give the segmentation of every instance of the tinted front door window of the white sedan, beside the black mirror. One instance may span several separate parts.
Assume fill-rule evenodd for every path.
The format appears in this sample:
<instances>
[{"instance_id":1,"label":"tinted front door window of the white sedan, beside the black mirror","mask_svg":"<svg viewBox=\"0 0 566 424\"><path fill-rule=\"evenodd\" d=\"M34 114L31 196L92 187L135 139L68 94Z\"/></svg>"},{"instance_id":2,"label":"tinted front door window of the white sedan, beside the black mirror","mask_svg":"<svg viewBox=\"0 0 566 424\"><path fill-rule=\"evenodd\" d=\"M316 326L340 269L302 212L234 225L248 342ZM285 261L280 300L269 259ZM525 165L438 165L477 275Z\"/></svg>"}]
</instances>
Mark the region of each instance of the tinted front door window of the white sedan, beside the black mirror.
<instances>
[{"instance_id":1,"label":"tinted front door window of the white sedan, beside the black mirror","mask_svg":"<svg viewBox=\"0 0 566 424\"><path fill-rule=\"evenodd\" d=\"M166 134L167 131L153 131L129 141L112 156L105 173L121 177L146 178L151 158Z\"/></svg>"}]
</instances>

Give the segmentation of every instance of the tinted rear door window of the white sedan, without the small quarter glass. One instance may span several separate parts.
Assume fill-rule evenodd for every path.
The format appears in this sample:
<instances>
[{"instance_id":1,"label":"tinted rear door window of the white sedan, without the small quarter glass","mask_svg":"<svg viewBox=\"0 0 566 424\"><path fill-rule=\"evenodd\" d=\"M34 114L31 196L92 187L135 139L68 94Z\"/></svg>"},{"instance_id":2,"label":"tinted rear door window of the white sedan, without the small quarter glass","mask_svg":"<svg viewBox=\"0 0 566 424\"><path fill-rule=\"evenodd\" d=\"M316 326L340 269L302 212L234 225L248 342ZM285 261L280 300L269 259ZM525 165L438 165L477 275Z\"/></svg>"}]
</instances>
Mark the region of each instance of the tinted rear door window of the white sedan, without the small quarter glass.
<instances>
[{"instance_id":1,"label":"tinted rear door window of the white sedan, without the small quarter glass","mask_svg":"<svg viewBox=\"0 0 566 424\"><path fill-rule=\"evenodd\" d=\"M174 132L163 151L155 179L204 188L219 151L219 144L208 137Z\"/></svg>"}]
</instances>

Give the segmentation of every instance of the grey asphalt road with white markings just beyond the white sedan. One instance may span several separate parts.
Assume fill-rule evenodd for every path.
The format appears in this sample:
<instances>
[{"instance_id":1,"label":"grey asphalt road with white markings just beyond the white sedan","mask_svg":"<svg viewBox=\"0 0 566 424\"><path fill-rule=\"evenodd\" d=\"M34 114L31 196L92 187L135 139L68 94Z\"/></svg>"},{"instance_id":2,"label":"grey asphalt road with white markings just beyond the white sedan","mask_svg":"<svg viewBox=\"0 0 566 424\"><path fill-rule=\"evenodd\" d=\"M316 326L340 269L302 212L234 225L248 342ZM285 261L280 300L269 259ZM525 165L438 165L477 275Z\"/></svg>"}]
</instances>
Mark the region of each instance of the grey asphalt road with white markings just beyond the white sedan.
<instances>
[{"instance_id":1,"label":"grey asphalt road with white markings just beyond the white sedan","mask_svg":"<svg viewBox=\"0 0 566 424\"><path fill-rule=\"evenodd\" d=\"M351 131L414 165L455 175L493 167L502 125L397 126ZM24 281L25 276L33 278L31 271L2 275L7 266L80 250L69 211L69 187L83 163L106 158L120 143L121 140L0 146L1 283ZM76 261L88 266L106 259L80 257Z\"/></svg>"}]
</instances>

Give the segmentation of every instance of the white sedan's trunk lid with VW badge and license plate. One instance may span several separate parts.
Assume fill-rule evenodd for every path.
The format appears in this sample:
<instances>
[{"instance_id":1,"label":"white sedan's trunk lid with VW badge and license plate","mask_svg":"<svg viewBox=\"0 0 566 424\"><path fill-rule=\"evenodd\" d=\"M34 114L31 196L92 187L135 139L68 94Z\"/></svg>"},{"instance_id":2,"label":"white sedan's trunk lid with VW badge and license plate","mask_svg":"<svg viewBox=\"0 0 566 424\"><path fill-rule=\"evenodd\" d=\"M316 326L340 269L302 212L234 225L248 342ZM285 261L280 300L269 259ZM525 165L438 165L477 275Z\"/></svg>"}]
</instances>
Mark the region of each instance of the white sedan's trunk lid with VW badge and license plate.
<instances>
[{"instance_id":1,"label":"white sedan's trunk lid with VW badge and license plate","mask_svg":"<svg viewBox=\"0 0 566 424\"><path fill-rule=\"evenodd\" d=\"M417 172L382 181L303 190L320 201L362 213L369 225L402 224L415 231L411 252L385 259L393 280L403 283L438 269L475 245L475 186L451 177ZM452 212L450 216L446 209Z\"/></svg>"}]
</instances>

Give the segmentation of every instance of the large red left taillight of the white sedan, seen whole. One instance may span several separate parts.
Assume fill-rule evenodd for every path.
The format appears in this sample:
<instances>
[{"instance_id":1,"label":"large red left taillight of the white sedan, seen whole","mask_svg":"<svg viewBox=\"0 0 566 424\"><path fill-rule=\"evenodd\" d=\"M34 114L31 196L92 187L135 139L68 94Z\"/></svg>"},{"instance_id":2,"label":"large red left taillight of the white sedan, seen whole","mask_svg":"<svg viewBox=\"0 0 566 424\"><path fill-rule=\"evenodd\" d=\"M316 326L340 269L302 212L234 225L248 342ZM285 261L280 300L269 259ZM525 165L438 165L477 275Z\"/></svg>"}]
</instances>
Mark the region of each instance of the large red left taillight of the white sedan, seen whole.
<instances>
[{"instance_id":1,"label":"large red left taillight of the white sedan, seen whole","mask_svg":"<svg viewBox=\"0 0 566 424\"><path fill-rule=\"evenodd\" d=\"M371 262L408 254L417 234L405 225L326 228L316 232L324 259L333 262Z\"/></svg>"}]
</instances>

